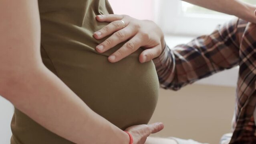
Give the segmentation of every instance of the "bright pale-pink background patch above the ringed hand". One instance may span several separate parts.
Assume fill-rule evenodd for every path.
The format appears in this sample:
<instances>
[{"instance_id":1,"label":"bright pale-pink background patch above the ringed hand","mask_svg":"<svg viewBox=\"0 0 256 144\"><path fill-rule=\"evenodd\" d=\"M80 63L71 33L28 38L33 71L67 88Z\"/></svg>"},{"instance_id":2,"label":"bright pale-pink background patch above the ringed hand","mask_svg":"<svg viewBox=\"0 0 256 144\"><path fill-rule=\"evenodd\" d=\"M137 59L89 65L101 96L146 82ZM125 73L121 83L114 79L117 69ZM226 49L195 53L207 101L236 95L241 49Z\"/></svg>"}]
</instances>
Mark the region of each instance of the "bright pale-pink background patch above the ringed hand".
<instances>
[{"instance_id":1,"label":"bright pale-pink background patch above the ringed hand","mask_svg":"<svg viewBox=\"0 0 256 144\"><path fill-rule=\"evenodd\" d=\"M109 0L115 14L127 14L137 19L153 20L153 0Z\"/></svg>"}]
</instances>

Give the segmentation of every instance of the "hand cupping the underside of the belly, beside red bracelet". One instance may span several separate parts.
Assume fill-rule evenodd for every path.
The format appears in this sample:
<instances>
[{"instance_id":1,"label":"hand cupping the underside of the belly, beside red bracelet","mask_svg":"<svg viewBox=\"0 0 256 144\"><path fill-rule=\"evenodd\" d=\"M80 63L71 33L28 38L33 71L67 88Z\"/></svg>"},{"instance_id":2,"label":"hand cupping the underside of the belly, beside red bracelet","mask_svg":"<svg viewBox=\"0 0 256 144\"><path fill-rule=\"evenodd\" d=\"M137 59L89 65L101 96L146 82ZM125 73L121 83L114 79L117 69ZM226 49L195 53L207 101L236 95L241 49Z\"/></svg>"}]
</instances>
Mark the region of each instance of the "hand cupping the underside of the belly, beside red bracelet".
<instances>
[{"instance_id":1,"label":"hand cupping the underside of the belly, beside red bracelet","mask_svg":"<svg viewBox=\"0 0 256 144\"><path fill-rule=\"evenodd\" d=\"M150 134L157 133L163 130L163 124L154 123L154 124L142 124L137 126L131 126L125 131L129 132L133 136L133 144L145 144L147 137Z\"/></svg>"}]
</instances>

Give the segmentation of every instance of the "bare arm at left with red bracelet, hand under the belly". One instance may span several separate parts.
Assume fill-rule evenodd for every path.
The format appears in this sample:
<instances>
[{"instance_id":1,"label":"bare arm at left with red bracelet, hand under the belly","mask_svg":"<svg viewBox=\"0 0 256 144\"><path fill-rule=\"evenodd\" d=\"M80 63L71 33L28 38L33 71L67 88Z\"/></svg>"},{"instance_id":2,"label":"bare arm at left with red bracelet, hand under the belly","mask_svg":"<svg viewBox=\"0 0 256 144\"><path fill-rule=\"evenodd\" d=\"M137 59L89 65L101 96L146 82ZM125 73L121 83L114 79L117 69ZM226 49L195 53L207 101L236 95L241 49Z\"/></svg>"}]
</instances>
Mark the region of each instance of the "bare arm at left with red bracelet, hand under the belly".
<instances>
[{"instance_id":1,"label":"bare arm at left with red bracelet, hand under the belly","mask_svg":"<svg viewBox=\"0 0 256 144\"><path fill-rule=\"evenodd\" d=\"M77 144L129 144L42 63L37 0L0 0L0 95L46 129ZM162 123L128 128L134 144Z\"/></svg>"}]
</instances>

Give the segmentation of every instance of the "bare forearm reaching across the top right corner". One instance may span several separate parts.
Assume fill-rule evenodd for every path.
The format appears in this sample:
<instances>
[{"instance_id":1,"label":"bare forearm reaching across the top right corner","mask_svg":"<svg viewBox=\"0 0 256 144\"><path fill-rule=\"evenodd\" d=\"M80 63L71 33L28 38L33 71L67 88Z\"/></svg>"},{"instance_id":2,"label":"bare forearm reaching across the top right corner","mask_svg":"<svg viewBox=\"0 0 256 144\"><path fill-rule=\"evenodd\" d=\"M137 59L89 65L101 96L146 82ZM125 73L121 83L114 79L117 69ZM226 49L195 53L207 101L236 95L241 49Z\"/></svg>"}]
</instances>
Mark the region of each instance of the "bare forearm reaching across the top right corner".
<instances>
[{"instance_id":1,"label":"bare forearm reaching across the top right corner","mask_svg":"<svg viewBox=\"0 0 256 144\"><path fill-rule=\"evenodd\" d=\"M231 14L250 22L256 22L254 10L256 6L240 0L183 0L211 10Z\"/></svg>"}]
</instances>

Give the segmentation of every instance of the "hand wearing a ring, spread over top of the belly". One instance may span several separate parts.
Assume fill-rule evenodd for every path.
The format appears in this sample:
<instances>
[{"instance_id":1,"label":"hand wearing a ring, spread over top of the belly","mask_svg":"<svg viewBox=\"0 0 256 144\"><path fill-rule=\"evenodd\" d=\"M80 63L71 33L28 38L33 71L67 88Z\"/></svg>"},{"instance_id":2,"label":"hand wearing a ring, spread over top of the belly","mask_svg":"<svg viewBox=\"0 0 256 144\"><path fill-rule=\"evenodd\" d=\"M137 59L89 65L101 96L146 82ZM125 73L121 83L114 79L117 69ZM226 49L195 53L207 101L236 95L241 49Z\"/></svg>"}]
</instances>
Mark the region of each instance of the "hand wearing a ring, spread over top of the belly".
<instances>
[{"instance_id":1,"label":"hand wearing a ring, spread over top of the belly","mask_svg":"<svg viewBox=\"0 0 256 144\"><path fill-rule=\"evenodd\" d=\"M95 32L96 39L102 39L114 33L96 47L98 52L105 52L117 44L129 40L109 56L110 62L118 62L140 47L145 50L140 54L139 61L141 63L148 62L159 56L165 46L163 32L150 20L137 20L130 16L116 14L99 15L96 16L96 19L99 22L111 22Z\"/></svg>"}]
</instances>

